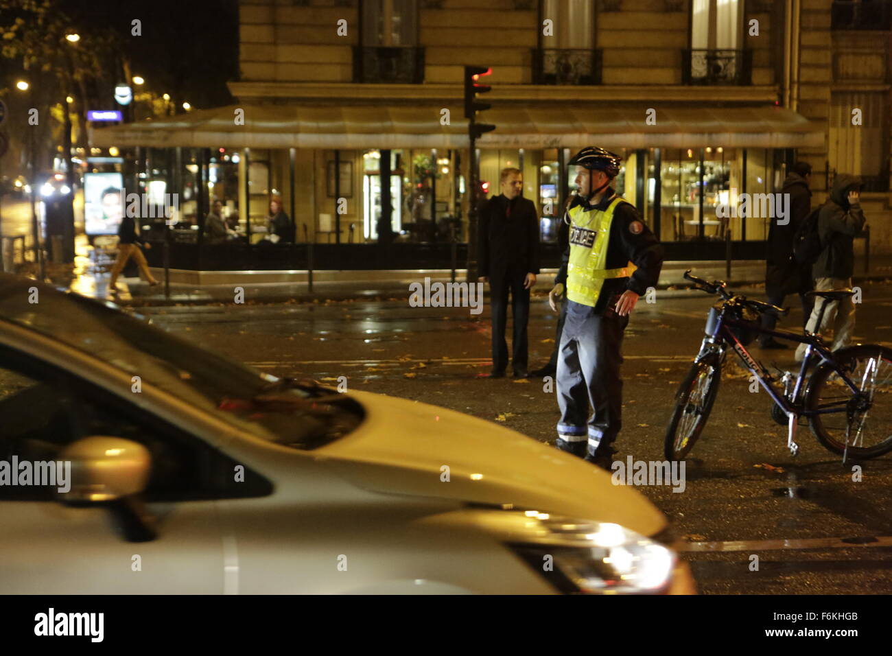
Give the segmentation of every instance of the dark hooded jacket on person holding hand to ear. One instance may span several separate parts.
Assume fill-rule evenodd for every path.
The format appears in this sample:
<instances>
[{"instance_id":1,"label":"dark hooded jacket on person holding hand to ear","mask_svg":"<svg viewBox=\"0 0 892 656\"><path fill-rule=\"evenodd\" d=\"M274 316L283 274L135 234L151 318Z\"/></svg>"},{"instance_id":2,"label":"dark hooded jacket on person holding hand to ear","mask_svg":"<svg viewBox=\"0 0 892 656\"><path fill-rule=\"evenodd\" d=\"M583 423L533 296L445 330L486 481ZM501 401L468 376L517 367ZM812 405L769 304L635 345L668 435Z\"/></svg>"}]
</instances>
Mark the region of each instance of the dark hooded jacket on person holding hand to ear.
<instances>
[{"instance_id":1,"label":"dark hooded jacket on person holding hand to ear","mask_svg":"<svg viewBox=\"0 0 892 656\"><path fill-rule=\"evenodd\" d=\"M861 204L848 203L848 192L858 187L861 179L846 173L833 180L830 200L818 214L818 236L824 250L814 263L814 278L851 278L855 272L853 243L865 220Z\"/></svg>"}]
</instances>

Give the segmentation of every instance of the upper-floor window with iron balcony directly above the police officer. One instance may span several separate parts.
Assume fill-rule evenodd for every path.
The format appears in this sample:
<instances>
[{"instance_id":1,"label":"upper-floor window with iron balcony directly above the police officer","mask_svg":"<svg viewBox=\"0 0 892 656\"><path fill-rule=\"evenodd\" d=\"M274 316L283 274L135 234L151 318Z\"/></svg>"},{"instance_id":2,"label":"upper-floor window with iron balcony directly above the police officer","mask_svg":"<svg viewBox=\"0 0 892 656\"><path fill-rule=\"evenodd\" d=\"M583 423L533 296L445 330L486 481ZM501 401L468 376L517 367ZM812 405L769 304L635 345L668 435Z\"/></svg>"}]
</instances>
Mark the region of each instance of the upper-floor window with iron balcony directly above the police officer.
<instances>
[{"instance_id":1,"label":"upper-floor window with iron balcony directly above the police officer","mask_svg":"<svg viewBox=\"0 0 892 656\"><path fill-rule=\"evenodd\" d=\"M533 50L533 84L600 84L594 5L591 0L542 0L539 24L551 21L551 34L540 32Z\"/></svg>"}]
</instances>

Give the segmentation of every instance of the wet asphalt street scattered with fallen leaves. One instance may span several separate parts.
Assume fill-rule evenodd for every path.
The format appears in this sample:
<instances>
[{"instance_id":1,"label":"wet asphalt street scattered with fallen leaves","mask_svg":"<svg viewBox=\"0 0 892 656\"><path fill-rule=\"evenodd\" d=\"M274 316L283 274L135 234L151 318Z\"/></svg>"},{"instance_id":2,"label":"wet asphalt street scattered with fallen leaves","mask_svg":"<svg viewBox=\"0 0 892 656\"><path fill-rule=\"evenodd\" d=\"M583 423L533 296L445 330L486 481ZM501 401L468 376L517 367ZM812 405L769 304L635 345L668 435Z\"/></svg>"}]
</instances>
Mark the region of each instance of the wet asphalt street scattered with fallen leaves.
<instances>
[{"instance_id":1,"label":"wet asphalt street scattered with fallen leaves","mask_svg":"<svg viewBox=\"0 0 892 656\"><path fill-rule=\"evenodd\" d=\"M757 289L744 290L763 298ZM714 298L657 292L642 298L624 342L624 430L616 458L661 461L673 395L697 353ZM789 303L789 300L788 300ZM892 286L863 286L856 341L892 345ZM488 308L409 307L405 300L170 305L136 308L156 325L276 375L435 403L498 422L533 439L555 438L553 388L541 379L488 379ZM554 346L556 317L533 299L530 364ZM784 323L800 325L801 311ZM792 349L759 351L773 370L793 369ZM729 363L736 356L729 355ZM343 380L343 379L342 379ZM808 428L787 450L764 391L726 365L713 415L690 453L683 492L638 486L672 519L683 557L705 594L892 593L892 455L852 463ZM887 411L892 411L888 407ZM485 435L480 436L483 440ZM511 454L505 457L510 459ZM757 556L757 561L753 557ZM757 563L758 569L755 569Z\"/></svg>"}]
</instances>

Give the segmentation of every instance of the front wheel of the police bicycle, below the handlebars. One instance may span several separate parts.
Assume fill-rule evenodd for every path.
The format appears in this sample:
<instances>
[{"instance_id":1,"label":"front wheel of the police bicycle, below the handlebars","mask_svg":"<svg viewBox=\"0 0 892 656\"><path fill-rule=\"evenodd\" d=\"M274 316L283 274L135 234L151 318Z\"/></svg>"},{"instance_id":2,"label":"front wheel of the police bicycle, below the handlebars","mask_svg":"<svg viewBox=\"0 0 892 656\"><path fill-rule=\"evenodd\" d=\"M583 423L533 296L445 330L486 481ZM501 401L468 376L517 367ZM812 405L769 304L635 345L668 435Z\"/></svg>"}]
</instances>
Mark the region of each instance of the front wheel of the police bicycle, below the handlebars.
<instances>
[{"instance_id":1,"label":"front wheel of the police bicycle, below the handlebars","mask_svg":"<svg viewBox=\"0 0 892 656\"><path fill-rule=\"evenodd\" d=\"M722 362L717 355L707 356L690 366L675 394L675 409L666 427L666 459L684 460L693 448L713 410L721 379Z\"/></svg>"}]
</instances>

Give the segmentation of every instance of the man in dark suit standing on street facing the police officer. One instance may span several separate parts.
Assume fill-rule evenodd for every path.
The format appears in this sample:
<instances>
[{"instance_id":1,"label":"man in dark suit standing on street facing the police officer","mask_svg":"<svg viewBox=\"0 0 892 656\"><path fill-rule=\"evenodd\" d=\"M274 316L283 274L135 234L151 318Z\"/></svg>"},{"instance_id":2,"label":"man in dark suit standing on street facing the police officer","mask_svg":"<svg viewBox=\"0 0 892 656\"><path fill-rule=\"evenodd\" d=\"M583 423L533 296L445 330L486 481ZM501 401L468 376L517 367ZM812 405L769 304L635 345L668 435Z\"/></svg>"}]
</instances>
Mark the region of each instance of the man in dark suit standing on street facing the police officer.
<instances>
[{"instance_id":1,"label":"man in dark suit standing on street facing the police officer","mask_svg":"<svg viewBox=\"0 0 892 656\"><path fill-rule=\"evenodd\" d=\"M480 212L478 275L490 283L492 317L491 378L508 368L508 292L514 318L511 363L515 378L527 377L526 325L530 317L530 289L539 273L539 216L533 201L524 198L523 174L502 170L501 194L483 204Z\"/></svg>"}]
</instances>

